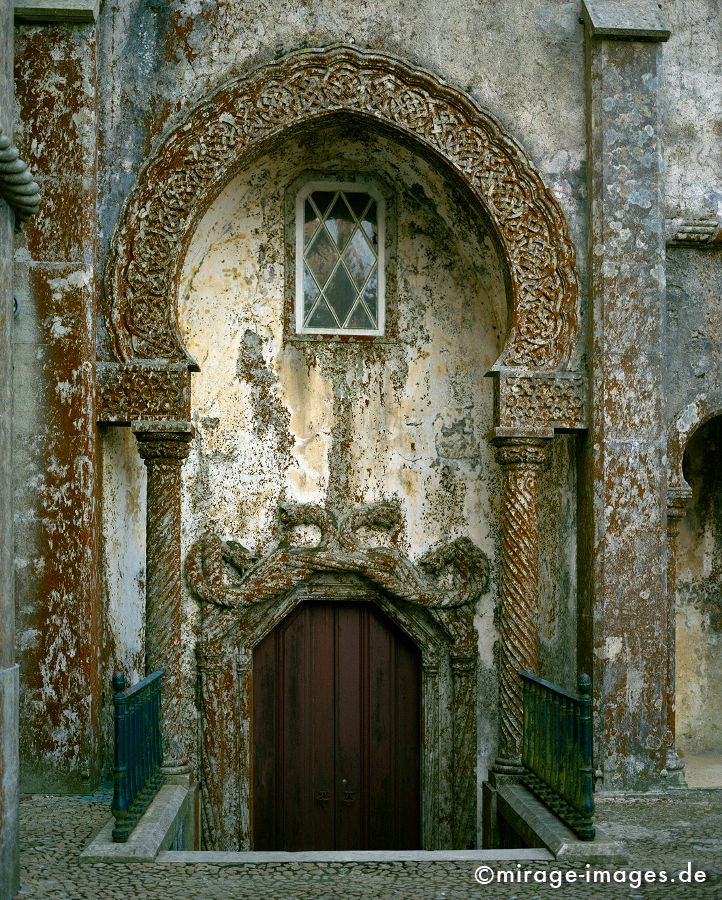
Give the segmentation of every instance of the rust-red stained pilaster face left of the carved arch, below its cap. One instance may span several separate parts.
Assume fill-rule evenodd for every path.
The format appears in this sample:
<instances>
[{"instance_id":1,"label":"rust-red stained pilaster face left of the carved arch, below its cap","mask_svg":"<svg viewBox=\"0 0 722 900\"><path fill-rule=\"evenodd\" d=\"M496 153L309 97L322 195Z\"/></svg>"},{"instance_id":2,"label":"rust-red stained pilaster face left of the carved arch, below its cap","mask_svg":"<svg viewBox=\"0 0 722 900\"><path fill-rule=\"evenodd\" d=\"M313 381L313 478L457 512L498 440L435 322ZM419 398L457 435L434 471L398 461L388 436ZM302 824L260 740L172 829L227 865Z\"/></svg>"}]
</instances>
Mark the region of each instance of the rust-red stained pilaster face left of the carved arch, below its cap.
<instances>
[{"instance_id":1,"label":"rust-red stained pilaster face left of the carved arch, below its cap","mask_svg":"<svg viewBox=\"0 0 722 900\"><path fill-rule=\"evenodd\" d=\"M95 41L16 29L16 141L44 203L19 236L15 567L25 790L99 772Z\"/></svg>"}]
</instances>

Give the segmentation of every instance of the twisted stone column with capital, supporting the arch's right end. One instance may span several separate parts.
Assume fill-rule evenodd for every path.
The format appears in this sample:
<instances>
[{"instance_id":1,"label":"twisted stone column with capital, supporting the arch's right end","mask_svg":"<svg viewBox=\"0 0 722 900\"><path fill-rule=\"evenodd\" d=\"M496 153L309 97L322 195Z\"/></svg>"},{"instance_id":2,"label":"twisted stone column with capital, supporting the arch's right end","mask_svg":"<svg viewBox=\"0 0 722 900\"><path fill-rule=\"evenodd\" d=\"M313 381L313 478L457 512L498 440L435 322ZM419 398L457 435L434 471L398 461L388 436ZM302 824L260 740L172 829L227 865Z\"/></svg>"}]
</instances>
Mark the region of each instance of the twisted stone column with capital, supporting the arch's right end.
<instances>
[{"instance_id":1,"label":"twisted stone column with capital, supporting the arch's right end","mask_svg":"<svg viewBox=\"0 0 722 900\"><path fill-rule=\"evenodd\" d=\"M520 771L523 690L519 669L537 672L538 476L549 438L496 437L504 473L501 524L499 756L494 771Z\"/></svg>"}]
</instances>

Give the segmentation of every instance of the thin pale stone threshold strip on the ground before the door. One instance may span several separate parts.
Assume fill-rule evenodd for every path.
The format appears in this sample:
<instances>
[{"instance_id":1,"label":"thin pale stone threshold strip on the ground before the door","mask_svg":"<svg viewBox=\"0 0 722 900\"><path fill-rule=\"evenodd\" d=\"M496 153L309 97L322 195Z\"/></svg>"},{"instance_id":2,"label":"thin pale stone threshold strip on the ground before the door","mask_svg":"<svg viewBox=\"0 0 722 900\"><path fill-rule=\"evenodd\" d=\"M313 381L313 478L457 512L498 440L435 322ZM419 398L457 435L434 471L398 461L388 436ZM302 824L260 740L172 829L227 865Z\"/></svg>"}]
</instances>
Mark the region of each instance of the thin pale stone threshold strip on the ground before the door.
<instances>
[{"instance_id":1,"label":"thin pale stone threshold strip on the ground before the door","mask_svg":"<svg viewBox=\"0 0 722 900\"><path fill-rule=\"evenodd\" d=\"M166 850L159 863L200 863L212 866L239 866L263 863L394 863L394 862L508 862L553 860L540 848L517 850Z\"/></svg>"}]
</instances>

